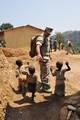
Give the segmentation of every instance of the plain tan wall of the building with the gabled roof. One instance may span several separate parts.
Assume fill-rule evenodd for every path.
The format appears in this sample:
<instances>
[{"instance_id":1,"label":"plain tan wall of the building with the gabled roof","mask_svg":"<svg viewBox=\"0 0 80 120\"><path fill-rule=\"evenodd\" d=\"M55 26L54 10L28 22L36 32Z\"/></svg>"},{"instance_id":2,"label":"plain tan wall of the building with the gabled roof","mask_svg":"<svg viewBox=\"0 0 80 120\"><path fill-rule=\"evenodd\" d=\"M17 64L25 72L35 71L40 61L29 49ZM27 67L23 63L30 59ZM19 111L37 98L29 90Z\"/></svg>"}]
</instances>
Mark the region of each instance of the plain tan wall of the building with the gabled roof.
<instances>
[{"instance_id":1,"label":"plain tan wall of the building with the gabled roof","mask_svg":"<svg viewBox=\"0 0 80 120\"><path fill-rule=\"evenodd\" d=\"M35 34L41 34L42 30L30 26L18 27L4 32L7 47L26 48L30 46L30 40Z\"/></svg>"}]
</instances>

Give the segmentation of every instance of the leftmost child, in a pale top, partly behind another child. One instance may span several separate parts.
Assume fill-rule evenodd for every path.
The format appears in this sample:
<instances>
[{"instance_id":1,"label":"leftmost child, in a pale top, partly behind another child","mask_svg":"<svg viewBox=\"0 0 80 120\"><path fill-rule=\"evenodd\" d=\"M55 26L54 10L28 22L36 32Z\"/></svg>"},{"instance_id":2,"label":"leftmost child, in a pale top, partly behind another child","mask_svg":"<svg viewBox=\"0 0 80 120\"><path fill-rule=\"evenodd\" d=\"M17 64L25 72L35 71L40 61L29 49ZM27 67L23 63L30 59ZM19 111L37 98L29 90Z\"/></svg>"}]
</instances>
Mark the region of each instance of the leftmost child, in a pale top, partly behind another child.
<instances>
[{"instance_id":1,"label":"leftmost child, in a pale top, partly behind another child","mask_svg":"<svg viewBox=\"0 0 80 120\"><path fill-rule=\"evenodd\" d=\"M18 78L18 90L19 92L23 92L24 84L26 84L26 69L29 66L29 62L27 65L23 65L22 60L16 60L16 77Z\"/></svg>"}]
</instances>

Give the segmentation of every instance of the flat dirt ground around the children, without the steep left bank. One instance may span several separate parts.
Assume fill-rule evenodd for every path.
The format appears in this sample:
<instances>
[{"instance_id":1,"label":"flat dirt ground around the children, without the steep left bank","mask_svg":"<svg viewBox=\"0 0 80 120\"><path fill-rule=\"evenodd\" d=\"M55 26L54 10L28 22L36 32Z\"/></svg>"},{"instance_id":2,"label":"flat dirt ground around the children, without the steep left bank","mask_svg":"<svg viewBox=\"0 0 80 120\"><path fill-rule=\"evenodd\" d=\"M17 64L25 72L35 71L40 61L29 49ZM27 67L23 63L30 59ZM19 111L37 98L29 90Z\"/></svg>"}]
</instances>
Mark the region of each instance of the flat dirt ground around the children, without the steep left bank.
<instances>
[{"instance_id":1,"label":"flat dirt ground around the children, without the steep left bank","mask_svg":"<svg viewBox=\"0 0 80 120\"><path fill-rule=\"evenodd\" d=\"M31 93L27 93L25 98L18 93L14 73L14 79L9 80L13 91L13 99L7 105L5 120L60 120L59 112L64 103L77 103L80 101L80 55L66 55L65 51L57 51L52 52L51 57L50 65L53 65L54 68L58 60L63 61L63 67L66 67L66 61L70 64L71 71L66 73L66 96L64 98L54 96L55 78L50 75L52 93L36 92L35 103L31 103ZM39 76L38 62L36 59L29 58L28 55L7 57L13 71L15 71L15 61L18 58L22 59L24 63L30 61L31 64L34 64Z\"/></svg>"}]
</instances>

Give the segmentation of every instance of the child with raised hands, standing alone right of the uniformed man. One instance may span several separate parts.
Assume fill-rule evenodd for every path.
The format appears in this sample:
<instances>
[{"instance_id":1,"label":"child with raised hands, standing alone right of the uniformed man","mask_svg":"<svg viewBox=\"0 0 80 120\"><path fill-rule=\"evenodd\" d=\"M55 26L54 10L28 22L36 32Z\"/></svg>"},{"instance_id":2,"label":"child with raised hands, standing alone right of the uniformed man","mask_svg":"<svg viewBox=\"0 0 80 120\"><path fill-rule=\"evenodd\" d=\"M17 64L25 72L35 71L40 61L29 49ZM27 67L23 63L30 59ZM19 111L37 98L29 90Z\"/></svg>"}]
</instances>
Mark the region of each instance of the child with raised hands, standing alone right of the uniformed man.
<instances>
[{"instance_id":1,"label":"child with raised hands, standing alone right of the uniformed man","mask_svg":"<svg viewBox=\"0 0 80 120\"><path fill-rule=\"evenodd\" d=\"M56 76L56 85L55 85L55 95L65 96L65 72L70 71L71 68L69 63L65 63L67 68L62 69L63 63L56 62L56 70L53 72L53 69L50 68L53 76Z\"/></svg>"}]
</instances>

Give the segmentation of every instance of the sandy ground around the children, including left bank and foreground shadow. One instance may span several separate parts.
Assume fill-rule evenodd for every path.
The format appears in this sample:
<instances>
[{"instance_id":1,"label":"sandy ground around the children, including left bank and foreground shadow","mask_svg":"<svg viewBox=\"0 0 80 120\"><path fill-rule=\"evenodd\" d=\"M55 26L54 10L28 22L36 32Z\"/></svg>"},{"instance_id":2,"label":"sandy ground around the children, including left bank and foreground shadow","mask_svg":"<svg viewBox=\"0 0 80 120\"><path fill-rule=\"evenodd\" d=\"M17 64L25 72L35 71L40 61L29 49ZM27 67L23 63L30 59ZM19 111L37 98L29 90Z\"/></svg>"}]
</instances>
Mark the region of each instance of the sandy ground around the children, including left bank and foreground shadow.
<instances>
[{"instance_id":1,"label":"sandy ground around the children, including left bank and foreground shadow","mask_svg":"<svg viewBox=\"0 0 80 120\"><path fill-rule=\"evenodd\" d=\"M34 64L39 76L39 63L36 59L31 59L27 52L19 51L19 54L11 53L10 56L8 50L5 55L0 52L0 113L1 120L60 120L60 110L64 103L80 103L80 55L66 55L65 51L57 51L51 53L51 63L55 68L55 63L58 60L65 63L68 61L71 66L71 71L66 73L66 96L65 98L56 98L54 96L55 78L51 75L50 84L52 86L52 93L36 93L35 103L31 103L30 93L26 94L23 98L17 91L17 80L15 78L15 61L16 59L22 59L24 64L29 61ZM11 51L11 50L10 50ZM17 50L18 52L18 50ZM17 53L16 52L16 53ZM22 54L24 53L24 54ZM6 56L6 57L5 57ZM65 64L64 64L64 67ZM40 79L39 79L40 80ZM6 97L4 97L4 94ZM5 98L5 101L3 99ZM5 105L3 105L5 104ZM4 109L6 108L6 110ZM64 119L63 119L64 120Z\"/></svg>"}]
</instances>

